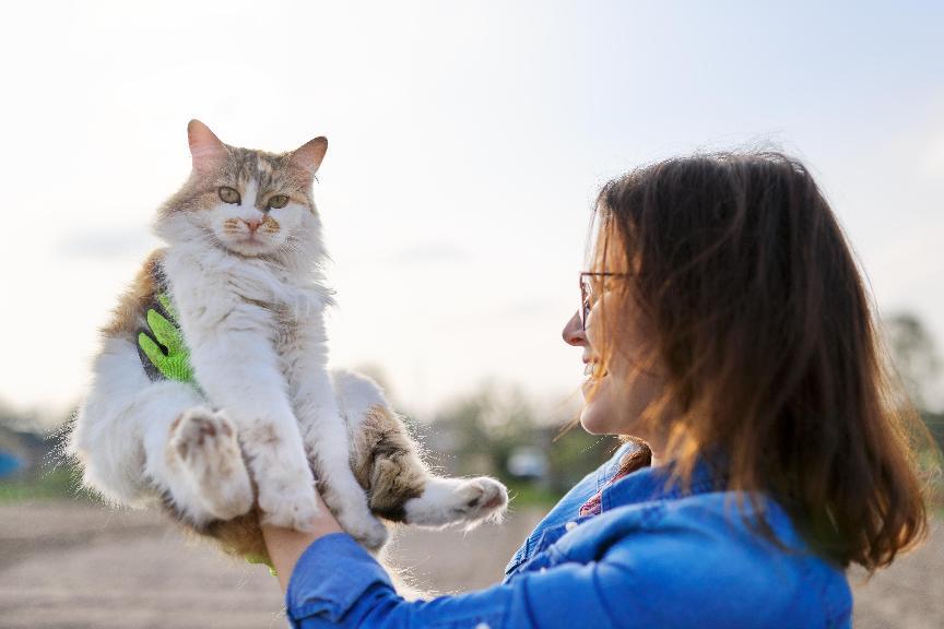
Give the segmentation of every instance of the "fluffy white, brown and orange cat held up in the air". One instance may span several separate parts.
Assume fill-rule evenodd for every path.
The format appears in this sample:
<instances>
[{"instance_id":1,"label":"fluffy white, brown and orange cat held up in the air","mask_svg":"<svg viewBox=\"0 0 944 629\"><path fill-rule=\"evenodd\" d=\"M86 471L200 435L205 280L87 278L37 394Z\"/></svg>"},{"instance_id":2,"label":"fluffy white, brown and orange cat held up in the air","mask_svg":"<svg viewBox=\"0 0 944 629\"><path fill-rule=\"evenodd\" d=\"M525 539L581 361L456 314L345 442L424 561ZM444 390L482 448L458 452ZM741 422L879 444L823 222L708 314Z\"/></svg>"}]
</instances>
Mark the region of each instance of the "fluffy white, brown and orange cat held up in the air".
<instances>
[{"instance_id":1,"label":"fluffy white, brown and orange cat held up in the air","mask_svg":"<svg viewBox=\"0 0 944 629\"><path fill-rule=\"evenodd\" d=\"M263 523L309 530L316 482L342 527L373 551L386 520L441 526L498 518L505 487L441 478L380 388L329 370L332 302L312 182L324 138L281 154L187 128L192 170L158 210L152 253L102 331L69 452L106 500L163 503L238 555L266 557ZM145 312L169 298L196 384L152 379ZM153 369L153 367L152 367Z\"/></svg>"}]
</instances>

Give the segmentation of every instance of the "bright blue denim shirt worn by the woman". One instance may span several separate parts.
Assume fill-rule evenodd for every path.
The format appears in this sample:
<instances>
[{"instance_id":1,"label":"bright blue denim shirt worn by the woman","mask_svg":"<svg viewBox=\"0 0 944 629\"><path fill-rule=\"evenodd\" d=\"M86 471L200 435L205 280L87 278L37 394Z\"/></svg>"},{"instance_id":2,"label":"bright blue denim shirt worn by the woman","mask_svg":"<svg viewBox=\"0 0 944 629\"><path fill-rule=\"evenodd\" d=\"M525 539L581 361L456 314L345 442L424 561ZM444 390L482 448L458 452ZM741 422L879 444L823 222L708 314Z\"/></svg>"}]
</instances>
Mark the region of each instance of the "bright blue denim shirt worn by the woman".
<instances>
[{"instance_id":1,"label":"bright blue denim shirt worn by the woman","mask_svg":"<svg viewBox=\"0 0 944 629\"><path fill-rule=\"evenodd\" d=\"M408 602L351 536L317 539L288 584L292 626L850 626L845 574L805 550L776 502L766 501L765 515L786 549L745 523L707 464L687 492L658 467L607 485L629 447L570 490L515 554L505 581L485 590ZM598 488L600 514L579 517Z\"/></svg>"}]
</instances>

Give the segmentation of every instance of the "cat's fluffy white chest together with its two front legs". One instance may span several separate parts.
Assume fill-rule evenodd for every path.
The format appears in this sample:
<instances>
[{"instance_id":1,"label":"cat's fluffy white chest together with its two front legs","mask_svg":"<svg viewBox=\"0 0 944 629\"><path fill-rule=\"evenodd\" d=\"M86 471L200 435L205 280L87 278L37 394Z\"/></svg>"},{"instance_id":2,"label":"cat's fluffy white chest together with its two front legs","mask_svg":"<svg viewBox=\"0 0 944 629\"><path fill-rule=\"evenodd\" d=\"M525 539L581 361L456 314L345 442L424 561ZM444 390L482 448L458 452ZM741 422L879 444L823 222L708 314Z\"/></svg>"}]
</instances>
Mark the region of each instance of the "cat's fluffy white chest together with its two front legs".
<instances>
[{"instance_id":1,"label":"cat's fluffy white chest together with its two front legs","mask_svg":"<svg viewBox=\"0 0 944 629\"><path fill-rule=\"evenodd\" d=\"M197 382L246 437L260 506L276 521L305 525L314 500L303 443L317 443L322 452L347 451L327 368L327 290L311 268L306 273L202 242L168 248L162 269ZM346 456L315 459L324 474L351 477L350 471L329 470L346 471ZM351 503L342 508L358 512L361 527L377 529L353 477L347 484L342 494ZM381 535L379 530L363 533Z\"/></svg>"}]
</instances>

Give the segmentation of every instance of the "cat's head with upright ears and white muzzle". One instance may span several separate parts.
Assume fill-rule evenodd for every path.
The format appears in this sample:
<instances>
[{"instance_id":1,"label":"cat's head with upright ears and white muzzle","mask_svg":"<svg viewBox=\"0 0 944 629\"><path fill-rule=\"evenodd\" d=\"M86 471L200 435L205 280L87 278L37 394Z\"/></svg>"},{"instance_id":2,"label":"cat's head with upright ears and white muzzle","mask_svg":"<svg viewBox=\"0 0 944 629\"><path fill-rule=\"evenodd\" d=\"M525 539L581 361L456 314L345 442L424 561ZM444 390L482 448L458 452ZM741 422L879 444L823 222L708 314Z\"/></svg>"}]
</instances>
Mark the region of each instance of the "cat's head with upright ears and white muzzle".
<instances>
[{"instance_id":1,"label":"cat's head with upright ears and white muzzle","mask_svg":"<svg viewBox=\"0 0 944 629\"><path fill-rule=\"evenodd\" d=\"M288 153L229 146L199 120L187 126L193 169L162 209L157 230L167 240L201 241L258 257L304 247L319 237L311 200L328 140Z\"/></svg>"}]
</instances>

